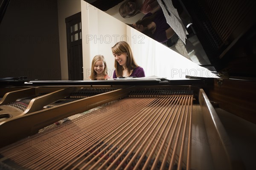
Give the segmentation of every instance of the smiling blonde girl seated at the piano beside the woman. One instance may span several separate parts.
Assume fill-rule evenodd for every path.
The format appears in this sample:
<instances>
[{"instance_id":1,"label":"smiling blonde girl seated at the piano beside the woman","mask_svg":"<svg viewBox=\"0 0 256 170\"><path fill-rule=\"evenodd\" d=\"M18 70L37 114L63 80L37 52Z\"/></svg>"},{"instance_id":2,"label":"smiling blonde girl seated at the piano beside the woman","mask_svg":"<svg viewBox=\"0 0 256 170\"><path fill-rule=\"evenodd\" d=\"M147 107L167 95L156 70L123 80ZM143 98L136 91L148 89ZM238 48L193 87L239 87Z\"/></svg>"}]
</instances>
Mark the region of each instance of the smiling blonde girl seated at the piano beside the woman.
<instances>
[{"instance_id":1,"label":"smiling blonde girl seated at the piano beside the woman","mask_svg":"<svg viewBox=\"0 0 256 170\"><path fill-rule=\"evenodd\" d=\"M89 79L110 79L107 74L107 64L104 56L96 55L93 57L91 75Z\"/></svg>"}]
</instances>

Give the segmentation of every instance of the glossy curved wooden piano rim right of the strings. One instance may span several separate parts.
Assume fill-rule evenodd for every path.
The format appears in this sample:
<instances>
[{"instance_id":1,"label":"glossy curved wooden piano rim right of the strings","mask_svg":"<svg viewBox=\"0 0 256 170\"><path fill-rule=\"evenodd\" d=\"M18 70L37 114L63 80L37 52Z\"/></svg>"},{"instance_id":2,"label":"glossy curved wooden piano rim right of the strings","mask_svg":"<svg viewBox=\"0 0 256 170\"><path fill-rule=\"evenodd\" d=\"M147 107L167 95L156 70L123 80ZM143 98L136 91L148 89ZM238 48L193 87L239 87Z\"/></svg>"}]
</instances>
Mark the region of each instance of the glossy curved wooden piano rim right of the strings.
<instances>
[{"instance_id":1,"label":"glossy curved wooden piano rim right of the strings","mask_svg":"<svg viewBox=\"0 0 256 170\"><path fill-rule=\"evenodd\" d=\"M219 140L218 144L210 145L215 169L244 169L232 143L227 141L229 136L203 89L199 91L199 103L204 113L207 135Z\"/></svg>"}]
</instances>

